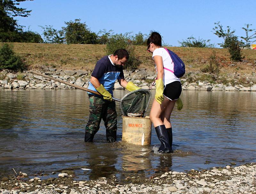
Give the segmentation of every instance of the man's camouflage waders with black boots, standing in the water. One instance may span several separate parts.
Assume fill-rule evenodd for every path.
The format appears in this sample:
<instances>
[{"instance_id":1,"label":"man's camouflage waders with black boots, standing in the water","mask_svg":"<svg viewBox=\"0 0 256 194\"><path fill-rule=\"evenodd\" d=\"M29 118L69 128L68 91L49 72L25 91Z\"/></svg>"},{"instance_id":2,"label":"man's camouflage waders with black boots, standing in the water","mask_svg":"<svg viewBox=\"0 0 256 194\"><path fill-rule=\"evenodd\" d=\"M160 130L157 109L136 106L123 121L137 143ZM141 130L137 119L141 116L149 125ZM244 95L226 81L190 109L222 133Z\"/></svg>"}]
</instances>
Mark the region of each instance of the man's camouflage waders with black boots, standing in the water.
<instances>
[{"instance_id":1,"label":"man's camouflage waders with black boots, standing in the water","mask_svg":"<svg viewBox=\"0 0 256 194\"><path fill-rule=\"evenodd\" d=\"M100 128L100 121L103 119L106 127L106 136L108 142L116 141L116 103L115 101L104 100L103 97L89 95L90 116L85 127L85 142L92 142L94 135Z\"/></svg>"}]
</instances>

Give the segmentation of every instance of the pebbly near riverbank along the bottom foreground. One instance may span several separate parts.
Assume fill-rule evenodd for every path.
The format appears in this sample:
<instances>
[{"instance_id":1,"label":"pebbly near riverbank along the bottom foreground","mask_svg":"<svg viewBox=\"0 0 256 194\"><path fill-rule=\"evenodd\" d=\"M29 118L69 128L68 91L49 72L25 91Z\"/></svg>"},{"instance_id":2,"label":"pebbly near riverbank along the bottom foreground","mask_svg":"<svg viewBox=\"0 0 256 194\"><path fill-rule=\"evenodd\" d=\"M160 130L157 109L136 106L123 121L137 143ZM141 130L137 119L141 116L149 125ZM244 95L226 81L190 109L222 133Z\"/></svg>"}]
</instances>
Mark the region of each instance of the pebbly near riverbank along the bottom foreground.
<instances>
[{"instance_id":1,"label":"pebbly near riverbank along the bottom foreground","mask_svg":"<svg viewBox=\"0 0 256 194\"><path fill-rule=\"evenodd\" d=\"M4 177L0 182L1 194L256 194L256 163L238 167L226 166L202 171L165 172L148 179L126 177L117 181L115 177L98 180L74 181L73 171L63 171L59 178L41 180L39 176L28 178L26 173Z\"/></svg>"}]
</instances>

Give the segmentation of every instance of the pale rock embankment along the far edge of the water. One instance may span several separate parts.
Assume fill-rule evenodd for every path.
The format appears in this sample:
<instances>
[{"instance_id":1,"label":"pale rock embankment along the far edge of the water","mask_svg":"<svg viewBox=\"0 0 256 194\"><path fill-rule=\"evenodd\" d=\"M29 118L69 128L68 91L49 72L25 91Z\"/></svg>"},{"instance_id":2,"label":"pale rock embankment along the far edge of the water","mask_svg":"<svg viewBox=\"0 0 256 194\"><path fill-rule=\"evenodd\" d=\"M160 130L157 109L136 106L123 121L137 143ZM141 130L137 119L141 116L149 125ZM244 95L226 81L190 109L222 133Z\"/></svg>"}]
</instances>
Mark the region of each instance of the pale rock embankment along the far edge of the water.
<instances>
[{"instance_id":1,"label":"pale rock embankment along the far edge of the water","mask_svg":"<svg viewBox=\"0 0 256 194\"><path fill-rule=\"evenodd\" d=\"M54 78L67 81L72 84L87 88L88 82L90 80L91 72L86 70L62 70L52 67L42 66L42 74L52 76ZM138 85L142 89L155 89L152 83L155 80L156 73L153 71L148 71L144 68L137 69L133 71L124 71L124 76L127 81L132 81L134 84ZM181 78L182 89L184 90L228 90L228 91L256 91L256 74L244 74L240 75L237 73L228 74L225 78L224 83L220 83L218 79L223 80L221 77L215 75L215 83L207 80L200 80L204 77L202 72L190 72L185 74ZM206 77L207 77L206 76ZM240 80L244 81L241 83ZM230 81L230 82L229 82ZM24 71L23 73L14 73L9 70L4 70L0 72L0 89L74 89L71 86L60 83L58 81L49 80L42 76L31 74L29 71ZM116 81L114 89L123 89Z\"/></svg>"}]
</instances>

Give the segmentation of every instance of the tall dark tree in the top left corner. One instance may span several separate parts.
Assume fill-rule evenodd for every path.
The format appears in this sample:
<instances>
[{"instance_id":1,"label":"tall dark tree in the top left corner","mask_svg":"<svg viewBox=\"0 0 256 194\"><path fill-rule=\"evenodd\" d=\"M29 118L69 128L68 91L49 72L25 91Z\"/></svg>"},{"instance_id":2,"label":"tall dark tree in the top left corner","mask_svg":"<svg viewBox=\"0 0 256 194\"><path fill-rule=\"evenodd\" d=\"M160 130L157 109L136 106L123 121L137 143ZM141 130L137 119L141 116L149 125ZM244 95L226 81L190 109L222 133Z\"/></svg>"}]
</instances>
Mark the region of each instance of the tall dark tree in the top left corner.
<instances>
[{"instance_id":1,"label":"tall dark tree in the top left corner","mask_svg":"<svg viewBox=\"0 0 256 194\"><path fill-rule=\"evenodd\" d=\"M20 2L27 0L0 0L0 40L2 42L16 41L20 38L21 26L13 17L28 17L31 10L20 8ZM33 1L33 0L30 0Z\"/></svg>"}]
</instances>

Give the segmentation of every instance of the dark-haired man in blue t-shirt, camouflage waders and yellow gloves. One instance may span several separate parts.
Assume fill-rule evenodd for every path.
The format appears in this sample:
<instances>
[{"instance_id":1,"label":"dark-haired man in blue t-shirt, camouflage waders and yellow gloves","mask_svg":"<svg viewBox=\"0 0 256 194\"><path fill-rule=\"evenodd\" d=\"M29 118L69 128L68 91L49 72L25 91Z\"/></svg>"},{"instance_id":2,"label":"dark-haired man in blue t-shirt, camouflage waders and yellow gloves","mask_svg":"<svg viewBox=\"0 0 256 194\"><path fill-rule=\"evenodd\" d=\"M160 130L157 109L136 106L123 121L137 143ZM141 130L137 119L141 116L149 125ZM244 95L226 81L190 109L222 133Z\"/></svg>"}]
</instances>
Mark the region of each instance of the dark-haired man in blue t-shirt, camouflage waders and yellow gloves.
<instances>
[{"instance_id":1,"label":"dark-haired man in blue t-shirt, camouflage waders and yellow gloves","mask_svg":"<svg viewBox=\"0 0 256 194\"><path fill-rule=\"evenodd\" d=\"M98 96L88 92L90 116L85 127L85 142L93 142L93 137L100 128L100 121L103 119L106 127L107 142L116 141L117 114L116 103L113 101L113 88L115 81L129 91L140 89L131 81L124 79L123 66L129 59L125 49L118 49L113 55L101 58L92 72L88 89L99 92Z\"/></svg>"}]
</instances>

